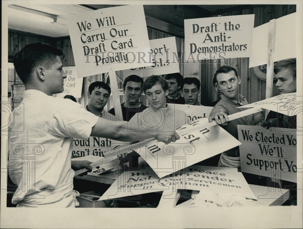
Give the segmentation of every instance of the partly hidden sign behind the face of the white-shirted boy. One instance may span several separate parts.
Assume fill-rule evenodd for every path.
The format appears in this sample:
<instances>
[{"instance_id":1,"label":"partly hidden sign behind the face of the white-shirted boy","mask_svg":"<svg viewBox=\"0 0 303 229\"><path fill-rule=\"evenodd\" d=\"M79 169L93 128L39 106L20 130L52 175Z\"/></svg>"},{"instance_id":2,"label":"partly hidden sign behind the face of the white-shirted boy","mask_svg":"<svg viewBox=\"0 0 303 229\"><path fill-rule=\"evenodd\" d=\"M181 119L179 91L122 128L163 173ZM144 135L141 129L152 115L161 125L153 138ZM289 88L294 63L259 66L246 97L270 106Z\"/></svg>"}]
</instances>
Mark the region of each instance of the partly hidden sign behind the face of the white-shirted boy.
<instances>
[{"instance_id":1,"label":"partly hidden sign behind the face of the white-shirted boy","mask_svg":"<svg viewBox=\"0 0 303 229\"><path fill-rule=\"evenodd\" d=\"M64 91L55 94L55 97L64 97L65 95L72 95L75 98L81 98L83 78L77 77L76 67L63 67L66 74L64 79Z\"/></svg>"}]
</instances>

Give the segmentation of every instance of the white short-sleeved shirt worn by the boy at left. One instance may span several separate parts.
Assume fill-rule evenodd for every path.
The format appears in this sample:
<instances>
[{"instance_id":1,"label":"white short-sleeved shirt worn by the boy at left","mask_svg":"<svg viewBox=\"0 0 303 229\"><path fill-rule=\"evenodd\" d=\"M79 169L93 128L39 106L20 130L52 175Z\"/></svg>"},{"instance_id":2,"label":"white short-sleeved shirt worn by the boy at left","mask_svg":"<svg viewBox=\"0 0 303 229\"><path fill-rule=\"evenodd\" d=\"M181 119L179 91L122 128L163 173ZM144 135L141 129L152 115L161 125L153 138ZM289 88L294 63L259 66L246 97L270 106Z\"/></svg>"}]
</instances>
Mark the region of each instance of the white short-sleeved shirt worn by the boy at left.
<instances>
[{"instance_id":1,"label":"white short-sleeved shirt worn by the boy at left","mask_svg":"<svg viewBox=\"0 0 303 229\"><path fill-rule=\"evenodd\" d=\"M44 197L36 203L49 203L50 190L73 180L73 137L87 140L99 117L72 100L48 96L39 90L25 90L21 104L12 114L8 168L12 181L18 185L12 203L37 194L43 196L45 190L48 199Z\"/></svg>"}]
</instances>

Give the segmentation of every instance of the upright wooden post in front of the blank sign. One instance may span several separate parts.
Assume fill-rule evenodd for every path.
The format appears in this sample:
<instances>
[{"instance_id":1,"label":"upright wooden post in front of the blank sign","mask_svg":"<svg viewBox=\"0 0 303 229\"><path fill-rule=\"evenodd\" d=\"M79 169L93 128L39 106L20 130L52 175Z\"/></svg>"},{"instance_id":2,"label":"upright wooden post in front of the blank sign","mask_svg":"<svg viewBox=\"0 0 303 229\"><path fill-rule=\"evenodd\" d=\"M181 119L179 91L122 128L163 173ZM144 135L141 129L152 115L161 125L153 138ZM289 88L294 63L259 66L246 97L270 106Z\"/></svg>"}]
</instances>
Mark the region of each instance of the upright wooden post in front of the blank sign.
<instances>
[{"instance_id":1,"label":"upright wooden post in front of the blank sign","mask_svg":"<svg viewBox=\"0 0 303 229\"><path fill-rule=\"evenodd\" d=\"M266 70L266 95L265 99L272 97L272 85L274 79L274 62L275 62L275 38L276 38L276 19L269 21L268 31L268 61ZM265 111L265 119L268 115L268 110Z\"/></svg>"}]
</instances>

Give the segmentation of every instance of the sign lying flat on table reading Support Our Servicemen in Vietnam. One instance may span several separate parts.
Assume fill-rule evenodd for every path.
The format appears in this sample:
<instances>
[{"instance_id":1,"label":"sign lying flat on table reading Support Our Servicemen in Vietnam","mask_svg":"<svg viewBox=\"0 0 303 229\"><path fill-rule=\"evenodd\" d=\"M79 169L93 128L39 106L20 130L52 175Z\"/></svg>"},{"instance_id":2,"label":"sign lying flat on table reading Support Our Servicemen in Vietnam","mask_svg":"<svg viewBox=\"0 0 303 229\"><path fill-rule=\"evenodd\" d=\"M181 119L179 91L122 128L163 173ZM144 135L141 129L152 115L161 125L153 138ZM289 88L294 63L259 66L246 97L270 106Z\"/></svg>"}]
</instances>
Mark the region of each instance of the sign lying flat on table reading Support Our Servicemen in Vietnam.
<instances>
[{"instance_id":1,"label":"sign lying flat on table reading Support Our Servicemen in Vietnam","mask_svg":"<svg viewBox=\"0 0 303 229\"><path fill-rule=\"evenodd\" d=\"M242 173L236 168L190 166L163 178L145 170L124 172L99 200L172 189L231 193L256 199Z\"/></svg>"}]
</instances>

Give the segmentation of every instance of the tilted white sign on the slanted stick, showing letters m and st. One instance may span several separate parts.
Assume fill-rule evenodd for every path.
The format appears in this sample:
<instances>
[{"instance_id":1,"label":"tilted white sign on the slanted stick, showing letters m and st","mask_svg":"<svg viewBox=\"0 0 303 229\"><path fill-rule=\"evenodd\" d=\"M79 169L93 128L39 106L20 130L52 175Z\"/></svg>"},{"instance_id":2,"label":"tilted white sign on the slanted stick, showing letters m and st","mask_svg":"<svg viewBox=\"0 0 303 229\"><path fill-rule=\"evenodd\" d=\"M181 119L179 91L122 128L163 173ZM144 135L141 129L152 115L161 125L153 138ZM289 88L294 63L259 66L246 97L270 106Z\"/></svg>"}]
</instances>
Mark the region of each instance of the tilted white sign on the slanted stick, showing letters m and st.
<instances>
[{"instance_id":1,"label":"tilted white sign on the slanted stick, showing letters m and st","mask_svg":"<svg viewBox=\"0 0 303 229\"><path fill-rule=\"evenodd\" d=\"M177 128L175 131L180 139L175 142L166 145L155 139L135 151L162 178L241 144L218 125L203 127L203 120L197 119ZM200 129L192 130L198 125L201 125Z\"/></svg>"}]
</instances>

